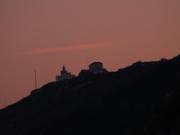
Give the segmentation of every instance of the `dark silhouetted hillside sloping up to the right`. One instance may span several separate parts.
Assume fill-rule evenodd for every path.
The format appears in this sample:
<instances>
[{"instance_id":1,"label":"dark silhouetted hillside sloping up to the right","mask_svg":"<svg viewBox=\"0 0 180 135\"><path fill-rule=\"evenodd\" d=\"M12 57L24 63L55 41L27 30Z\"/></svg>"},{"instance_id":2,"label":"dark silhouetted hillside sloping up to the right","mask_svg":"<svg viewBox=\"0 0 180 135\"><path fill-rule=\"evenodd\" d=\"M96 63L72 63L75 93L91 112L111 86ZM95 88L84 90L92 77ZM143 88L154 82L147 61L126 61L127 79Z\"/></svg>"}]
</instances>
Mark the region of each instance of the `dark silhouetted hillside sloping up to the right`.
<instances>
[{"instance_id":1,"label":"dark silhouetted hillside sloping up to the right","mask_svg":"<svg viewBox=\"0 0 180 135\"><path fill-rule=\"evenodd\" d=\"M49 83L0 111L1 135L179 135L180 56Z\"/></svg>"}]
</instances>

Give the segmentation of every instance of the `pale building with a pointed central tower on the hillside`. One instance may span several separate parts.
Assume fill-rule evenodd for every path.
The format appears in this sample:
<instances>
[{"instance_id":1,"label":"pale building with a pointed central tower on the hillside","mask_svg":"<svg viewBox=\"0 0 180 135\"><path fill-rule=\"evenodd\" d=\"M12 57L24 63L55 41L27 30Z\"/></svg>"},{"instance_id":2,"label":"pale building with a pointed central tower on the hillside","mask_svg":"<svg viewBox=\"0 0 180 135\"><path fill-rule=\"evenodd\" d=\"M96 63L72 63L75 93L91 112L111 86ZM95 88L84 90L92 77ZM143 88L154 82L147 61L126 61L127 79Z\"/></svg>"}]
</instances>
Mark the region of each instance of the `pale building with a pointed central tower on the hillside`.
<instances>
[{"instance_id":1,"label":"pale building with a pointed central tower on the hillside","mask_svg":"<svg viewBox=\"0 0 180 135\"><path fill-rule=\"evenodd\" d=\"M72 78L74 78L74 77L75 77L75 75L71 74L71 72L68 72L68 71L66 70L66 67L63 66L63 67L62 67L62 70L61 70L61 72L60 72L60 75L57 75L57 76L56 76L56 81L69 80L69 79L72 79Z\"/></svg>"}]
</instances>

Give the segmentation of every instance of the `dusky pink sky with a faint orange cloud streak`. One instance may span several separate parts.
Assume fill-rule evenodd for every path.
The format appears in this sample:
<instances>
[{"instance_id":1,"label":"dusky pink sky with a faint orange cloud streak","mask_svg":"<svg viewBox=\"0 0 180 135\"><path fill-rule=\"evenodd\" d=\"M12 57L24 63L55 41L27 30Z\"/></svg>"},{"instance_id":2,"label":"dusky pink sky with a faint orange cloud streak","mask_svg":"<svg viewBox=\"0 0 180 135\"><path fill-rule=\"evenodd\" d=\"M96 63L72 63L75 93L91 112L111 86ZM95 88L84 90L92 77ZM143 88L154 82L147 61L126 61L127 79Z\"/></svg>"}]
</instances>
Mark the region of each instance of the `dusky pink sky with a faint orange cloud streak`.
<instances>
[{"instance_id":1,"label":"dusky pink sky with a faint orange cloud streak","mask_svg":"<svg viewBox=\"0 0 180 135\"><path fill-rule=\"evenodd\" d=\"M109 71L180 54L179 0L0 0L0 108L93 61Z\"/></svg>"}]
</instances>

